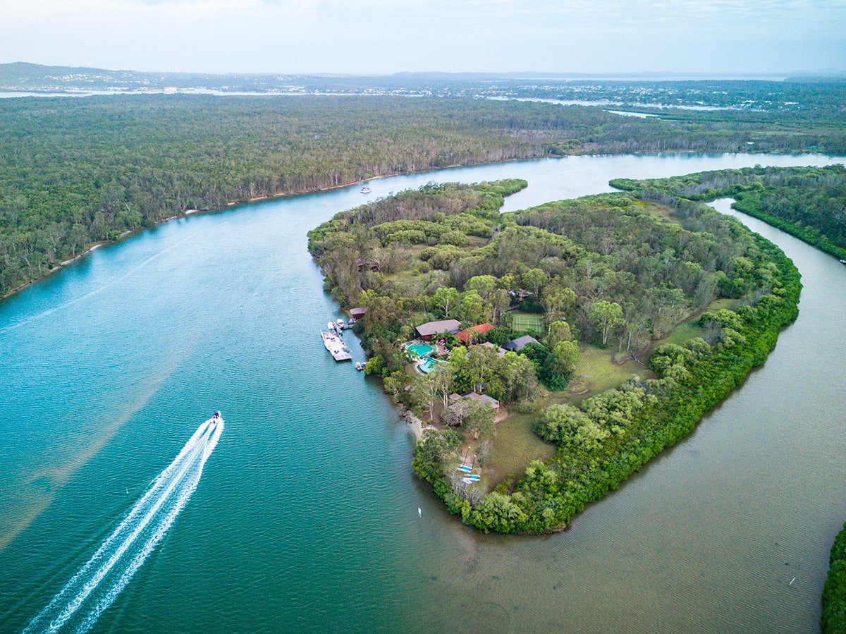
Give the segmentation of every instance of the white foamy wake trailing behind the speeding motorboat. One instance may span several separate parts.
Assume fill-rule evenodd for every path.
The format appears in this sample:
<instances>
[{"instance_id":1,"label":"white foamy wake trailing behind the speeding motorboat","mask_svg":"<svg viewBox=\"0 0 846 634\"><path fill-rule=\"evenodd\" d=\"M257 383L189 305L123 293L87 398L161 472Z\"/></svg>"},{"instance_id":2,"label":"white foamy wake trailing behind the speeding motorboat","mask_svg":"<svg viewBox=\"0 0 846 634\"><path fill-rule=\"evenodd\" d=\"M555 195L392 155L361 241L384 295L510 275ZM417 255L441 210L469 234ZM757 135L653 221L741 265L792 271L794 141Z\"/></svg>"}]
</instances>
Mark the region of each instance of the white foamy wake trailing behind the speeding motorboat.
<instances>
[{"instance_id":1,"label":"white foamy wake trailing behind the speeding motorboat","mask_svg":"<svg viewBox=\"0 0 846 634\"><path fill-rule=\"evenodd\" d=\"M151 482L114 532L52 598L24 632L91 629L168 532L197 488L203 466L223 432L220 418L204 422Z\"/></svg>"}]
</instances>

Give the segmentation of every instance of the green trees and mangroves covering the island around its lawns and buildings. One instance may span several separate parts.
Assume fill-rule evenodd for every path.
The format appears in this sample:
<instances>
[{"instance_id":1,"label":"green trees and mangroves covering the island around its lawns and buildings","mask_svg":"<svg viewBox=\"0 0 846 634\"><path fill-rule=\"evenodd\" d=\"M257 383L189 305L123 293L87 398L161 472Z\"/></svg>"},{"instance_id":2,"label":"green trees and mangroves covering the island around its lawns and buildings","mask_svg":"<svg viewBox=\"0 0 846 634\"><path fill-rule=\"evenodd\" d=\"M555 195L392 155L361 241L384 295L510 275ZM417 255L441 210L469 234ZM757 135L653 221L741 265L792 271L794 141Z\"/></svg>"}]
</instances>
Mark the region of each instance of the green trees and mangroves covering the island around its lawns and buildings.
<instances>
[{"instance_id":1,"label":"green trees and mangroves covering the island around its lawns and buildings","mask_svg":"<svg viewBox=\"0 0 846 634\"><path fill-rule=\"evenodd\" d=\"M520 409L538 380L566 386L580 348L644 350L705 311L700 337L651 356L659 378L633 376L579 406L560 402L540 412L536 433L558 451L548 463L533 462L519 482L484 495L463 486L449 475L460 433L427 431L415 473L449 510L485 531L534 533L565 526L689 433L764 361L798 314L800 284L775 245L711 207L668 196L656 202L640 190L500 215L503 196L523 185L429 185L339 213L309 237L327 289L343 305L367 307L356 328L368 372L385 379L395 400L430 416L441 402L442 420L475 438L491 435L492 423L478 411L455 411L453 391ZM735 310L708 310L719 298ZM546 334L497 356L518 305L543 315ZM493 323L478 339L492 346L443 334L448 355L435 372L415 376L398 344L414 336L413 326L448 317L463 327Z\"/></svg>"}]
</instances>

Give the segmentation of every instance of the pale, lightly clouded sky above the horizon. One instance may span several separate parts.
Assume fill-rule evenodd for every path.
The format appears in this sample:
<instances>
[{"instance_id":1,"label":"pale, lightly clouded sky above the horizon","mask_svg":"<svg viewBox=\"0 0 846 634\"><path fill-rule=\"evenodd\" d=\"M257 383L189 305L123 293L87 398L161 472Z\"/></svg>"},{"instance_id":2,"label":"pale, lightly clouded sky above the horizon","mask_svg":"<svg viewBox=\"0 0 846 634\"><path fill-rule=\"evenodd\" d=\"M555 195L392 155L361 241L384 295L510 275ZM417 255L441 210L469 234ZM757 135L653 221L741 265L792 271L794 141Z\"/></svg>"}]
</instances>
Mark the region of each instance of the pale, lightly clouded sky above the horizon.
<instances>
[{"instance_id":1,"label":"pale, lightly clouded sky above the horizon","mask_svg":"<svg viewBox=\"0 0 846 634\"><path fill-rule=\"evenodd\" d=\"M0 25L0 63L104 69L846 69L846 0L0 0Z\"/></svg>"}]
</instances>

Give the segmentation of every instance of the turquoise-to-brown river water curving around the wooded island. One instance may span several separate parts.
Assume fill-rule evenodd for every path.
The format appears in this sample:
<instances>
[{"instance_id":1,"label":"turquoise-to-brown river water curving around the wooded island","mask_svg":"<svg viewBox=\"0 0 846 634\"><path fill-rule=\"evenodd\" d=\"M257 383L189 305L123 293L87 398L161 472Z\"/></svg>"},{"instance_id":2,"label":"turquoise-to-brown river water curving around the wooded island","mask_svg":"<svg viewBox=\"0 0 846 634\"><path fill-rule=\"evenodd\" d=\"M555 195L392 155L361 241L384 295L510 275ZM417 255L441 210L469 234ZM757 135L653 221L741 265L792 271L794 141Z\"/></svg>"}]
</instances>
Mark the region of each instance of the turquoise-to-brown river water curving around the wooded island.
<instances>
[{"instance_id":1,"label":"turquoise-to-brown river water curving around the wooded island","mask_svg":"<svg viewBox=\"0 0 846 634\"><path fill-rule=\"evenodd\" d=\"M226 427L193 497L91 631L818 631L846 520L836 259L742 218L799 267L799 320L683 443L568 531L523 538L462 526L412 476L407 425L321 345L341 315L305 234L429 181L526 179L514 211L617 177L842 162L454 168L182 218L92 251L0 304L0 631L50 604L215 410Z\"/></svg>"}]
</instances>

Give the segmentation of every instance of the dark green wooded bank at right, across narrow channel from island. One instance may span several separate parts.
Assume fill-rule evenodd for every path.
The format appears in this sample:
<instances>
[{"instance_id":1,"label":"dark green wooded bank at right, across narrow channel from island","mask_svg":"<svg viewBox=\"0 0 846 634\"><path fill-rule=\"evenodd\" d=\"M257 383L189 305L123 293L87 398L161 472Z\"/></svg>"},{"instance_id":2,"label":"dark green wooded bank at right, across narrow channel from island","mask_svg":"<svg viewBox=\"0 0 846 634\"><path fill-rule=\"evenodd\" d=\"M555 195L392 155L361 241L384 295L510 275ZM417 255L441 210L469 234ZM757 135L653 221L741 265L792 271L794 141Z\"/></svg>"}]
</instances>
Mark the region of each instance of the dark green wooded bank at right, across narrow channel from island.
<instances>
[{"instance_id":1,"label":"dark green wooded bank at right, across narrow channel from island","mask_svg":"<svg viewBox=\"0 0 846 634\"><path fill-rule=\"evenodd\" d=\"M611 185L638 190L645 182L616 179ZM649 183L653 197L691 201L735 199L732 207L846 259L846 168L744 168L688 174Z\"/></svg>"}]
</instances>

